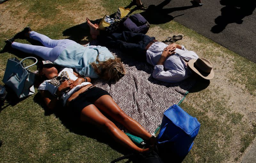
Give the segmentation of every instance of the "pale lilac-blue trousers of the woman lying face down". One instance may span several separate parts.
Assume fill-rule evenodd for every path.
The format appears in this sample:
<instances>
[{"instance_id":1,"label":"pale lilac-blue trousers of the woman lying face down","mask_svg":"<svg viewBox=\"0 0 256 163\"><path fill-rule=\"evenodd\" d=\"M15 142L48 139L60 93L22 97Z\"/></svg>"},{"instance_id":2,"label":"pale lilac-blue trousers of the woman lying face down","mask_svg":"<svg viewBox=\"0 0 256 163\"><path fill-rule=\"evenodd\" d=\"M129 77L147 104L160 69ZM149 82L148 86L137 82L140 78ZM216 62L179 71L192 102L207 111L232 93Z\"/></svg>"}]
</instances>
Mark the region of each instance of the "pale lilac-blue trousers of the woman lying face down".
<instances>
[{"instance_id":1,"label":"pale lilac-blue trousers of the woman lying face down","mask_svg":"<svg viewBox=\"0 0 256 163\"><path fill-rule=\"evenodd\" d=\"M41 42L44 46L36 46L13 42L12 48L18 49L25 53L35 54L43 58L44 60L50 60L51 62L54 62L54 60L58 58L60 53L63 52L63 50L67 46L71 44L77 44L75 41L72 41L70 39L50 39L49 37L34 31L30 32L29 37L31 39Z\"/></svg>"}]
</instances>

